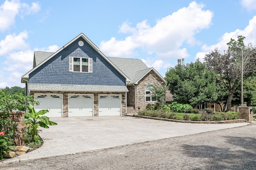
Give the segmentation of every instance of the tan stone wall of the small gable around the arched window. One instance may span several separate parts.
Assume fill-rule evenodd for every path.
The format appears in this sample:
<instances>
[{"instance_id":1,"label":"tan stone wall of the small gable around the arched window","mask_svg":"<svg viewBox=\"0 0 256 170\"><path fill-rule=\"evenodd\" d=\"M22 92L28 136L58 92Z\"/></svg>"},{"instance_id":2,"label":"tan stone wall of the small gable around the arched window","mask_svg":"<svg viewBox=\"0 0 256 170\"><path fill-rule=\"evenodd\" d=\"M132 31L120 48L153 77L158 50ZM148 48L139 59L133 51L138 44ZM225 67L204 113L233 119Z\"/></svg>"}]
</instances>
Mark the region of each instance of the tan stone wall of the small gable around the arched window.
<instances>
[{"instance_id":1,"label":"tan stone wall of the small gable around the arched window","mask_svg":"<svg viewBox=\"0 0 256 170\"><path fill-rule=\"evenodd\" d=\"M156 102L146 102L146 87L148 85L160 84L162 83L162 79L156 75L154 71L150 71L146 76L144 76L136 85L136 100L137 100L137 108L140 106L141 109L145 109L147 104L154 104ZM137 109L136 108L136 109Z\"/></svg>"}]
</instances>

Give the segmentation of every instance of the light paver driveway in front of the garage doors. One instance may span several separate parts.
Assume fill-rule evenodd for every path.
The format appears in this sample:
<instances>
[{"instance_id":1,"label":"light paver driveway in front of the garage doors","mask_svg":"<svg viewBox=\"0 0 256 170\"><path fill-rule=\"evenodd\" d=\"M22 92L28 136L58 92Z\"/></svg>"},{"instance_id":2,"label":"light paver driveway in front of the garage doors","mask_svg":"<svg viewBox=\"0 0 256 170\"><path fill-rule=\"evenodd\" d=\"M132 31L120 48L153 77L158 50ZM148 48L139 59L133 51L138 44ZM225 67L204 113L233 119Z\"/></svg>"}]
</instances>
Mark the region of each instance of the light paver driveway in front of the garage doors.
<instances>
[{"instance_id":1,"label":"light paver driveway in front of the garage doors","mask_svg":"<svg viewBox=\"0 0 256 170\"><path fill-rule=\"evenodd\" d=\"M249 124L176 123L128 116L62 117L50 120L58 125L42 129L42 147L2 163L106 149Z\"/></svg>"}]
</instances>

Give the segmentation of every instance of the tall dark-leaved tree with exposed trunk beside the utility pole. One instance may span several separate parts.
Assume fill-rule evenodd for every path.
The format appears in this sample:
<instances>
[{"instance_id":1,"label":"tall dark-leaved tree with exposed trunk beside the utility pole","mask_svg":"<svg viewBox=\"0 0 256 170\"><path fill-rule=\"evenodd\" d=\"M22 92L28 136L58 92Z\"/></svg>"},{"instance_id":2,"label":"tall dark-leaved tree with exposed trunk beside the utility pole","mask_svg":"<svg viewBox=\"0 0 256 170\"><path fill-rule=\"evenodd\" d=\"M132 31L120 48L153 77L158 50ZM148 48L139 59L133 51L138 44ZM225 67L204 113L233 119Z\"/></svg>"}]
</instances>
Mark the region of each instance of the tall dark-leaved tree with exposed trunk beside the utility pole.
<instances>
[{"instance_id":1,"label":"tall dark-leaved tree with exposed trunk beside the utility pole","mask_svg":"<svg viewBox=\"0 0 256 170\"><path fill-rule=\"evenodd\" d=\"M226 111L230 111L235 91L241 80L241 59L243 51L243 77L244 79L256 74L256 48L252 44L244 45L245 37L239 35L238 40L231 39L228 50L221 54L218 48L207 54L204 58L206 68L213 70L218 75L218 80L224 84L228 91ZM222 98L220 98L221 100Z\"/></svg>"}]
</instances>

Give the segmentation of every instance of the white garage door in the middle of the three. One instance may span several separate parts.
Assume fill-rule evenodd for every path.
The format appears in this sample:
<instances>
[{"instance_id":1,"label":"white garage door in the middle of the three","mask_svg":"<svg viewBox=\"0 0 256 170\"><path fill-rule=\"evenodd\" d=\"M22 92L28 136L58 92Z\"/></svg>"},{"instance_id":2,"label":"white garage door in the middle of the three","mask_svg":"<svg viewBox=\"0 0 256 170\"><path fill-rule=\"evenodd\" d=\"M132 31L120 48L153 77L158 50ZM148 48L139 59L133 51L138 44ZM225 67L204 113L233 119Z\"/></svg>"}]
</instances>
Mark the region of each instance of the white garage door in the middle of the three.
<instances>
[{"instance_id":1,"label":"white garage door in the middle of the three","mask_svg":"<svg viewBox=\"0 0 256 170\"><path fill-rule=\"evenodd\" d=\"M68 117L75 116L93 116L93 95L68 95Z\"/></svg>"}]
</instances>

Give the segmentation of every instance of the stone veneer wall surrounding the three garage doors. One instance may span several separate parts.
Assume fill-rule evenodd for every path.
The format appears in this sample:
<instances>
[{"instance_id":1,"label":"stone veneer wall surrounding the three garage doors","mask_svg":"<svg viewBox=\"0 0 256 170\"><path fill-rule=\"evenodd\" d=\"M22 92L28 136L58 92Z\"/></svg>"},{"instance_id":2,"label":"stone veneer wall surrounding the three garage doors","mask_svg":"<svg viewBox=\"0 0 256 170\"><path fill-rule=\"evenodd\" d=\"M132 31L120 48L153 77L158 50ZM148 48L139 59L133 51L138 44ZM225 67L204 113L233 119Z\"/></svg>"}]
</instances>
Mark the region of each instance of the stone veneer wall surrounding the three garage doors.
<instances>
[{"instance_id":1,"label":"stone veneer wall surrounding the three garage doors","mask_svg":"<svg viewBox=\"0 0 256 170\"><path fill-rule=\"evenodd\" d=\"M122 100L122 115L126 114L126 93L116 93L116 92L64 92L64 91L32 91L30 95L35 93L47 93L47 94L63 94L63 117L68 117L68 94L94 94L94 116L99 115L99 94L121 94Z\"/></svg>"}]
</instances>

